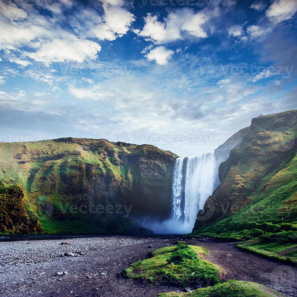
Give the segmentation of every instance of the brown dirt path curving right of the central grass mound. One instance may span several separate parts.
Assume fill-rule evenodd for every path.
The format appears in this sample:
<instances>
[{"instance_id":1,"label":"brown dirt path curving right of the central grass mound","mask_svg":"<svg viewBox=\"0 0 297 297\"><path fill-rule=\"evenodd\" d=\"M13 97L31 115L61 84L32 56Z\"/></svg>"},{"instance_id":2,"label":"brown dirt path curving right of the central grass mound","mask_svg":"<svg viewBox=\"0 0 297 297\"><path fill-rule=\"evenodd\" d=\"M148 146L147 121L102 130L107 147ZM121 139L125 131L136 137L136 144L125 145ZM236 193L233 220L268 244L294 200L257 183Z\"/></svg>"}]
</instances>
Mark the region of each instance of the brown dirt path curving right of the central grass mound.
<instances>
[{"instance_id":1,"label":"brown dirt path curving right of the central grass mound","mask_svg":"<svg viewBox=\"0 0 297 297\"><path fill-rule=\"evenodd\" d=\"M209 250L206 259L226 270L226 280L238 279L258 282L286 296L297 295L297 268L285 263L263 258L236 248L237 242L189 240L189 244L201 245ZM226 257L226 255L232 257Z\"/></svg>"}]
</instances>

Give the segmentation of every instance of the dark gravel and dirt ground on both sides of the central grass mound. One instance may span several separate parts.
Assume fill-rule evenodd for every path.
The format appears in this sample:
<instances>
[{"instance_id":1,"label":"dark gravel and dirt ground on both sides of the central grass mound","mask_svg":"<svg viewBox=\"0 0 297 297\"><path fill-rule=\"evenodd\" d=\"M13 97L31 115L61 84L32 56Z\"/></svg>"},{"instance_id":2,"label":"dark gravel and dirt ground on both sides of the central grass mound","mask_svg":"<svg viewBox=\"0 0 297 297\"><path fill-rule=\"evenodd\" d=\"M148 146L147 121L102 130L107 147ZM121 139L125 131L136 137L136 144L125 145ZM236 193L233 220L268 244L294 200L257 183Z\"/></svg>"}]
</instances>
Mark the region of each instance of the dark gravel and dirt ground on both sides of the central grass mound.
<instances>
[{"instance_id":1,"label":"dark gravel and dirt ground on both sides of the central grass mound","mask_svg":"<svg viewBox=\"0 0 297 297\"><path fill-rule=\"evenodd\" d=\"M2 242L0 295L5 296L157 296L172 285L149 285L122 277L121 272L152 250L176 239L135 236ZM68 242L68 245L61 245ZM286 296L297 292L297 268L239 250L236 243L187 240L209 250L206 259L226 270L225 279L259 282ZM148 248L148 245L152 248ZM85 255L67 257L65 252ZM227 254L232 257L226 257ZM57 275L57 272L67 272Z\"/></svg>"}]
</instances>

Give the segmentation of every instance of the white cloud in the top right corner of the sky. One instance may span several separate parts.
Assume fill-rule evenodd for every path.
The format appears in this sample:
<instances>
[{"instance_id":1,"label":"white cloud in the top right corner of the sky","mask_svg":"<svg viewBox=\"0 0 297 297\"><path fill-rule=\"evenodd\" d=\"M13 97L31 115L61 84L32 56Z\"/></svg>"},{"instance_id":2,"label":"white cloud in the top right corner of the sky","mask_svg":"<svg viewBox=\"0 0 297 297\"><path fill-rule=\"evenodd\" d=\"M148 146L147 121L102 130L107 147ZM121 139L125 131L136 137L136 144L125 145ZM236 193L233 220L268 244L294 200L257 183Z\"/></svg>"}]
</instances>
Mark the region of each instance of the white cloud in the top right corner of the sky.
<instances>
[{"instance_id":1,"label":"white cloud in the top right corner of the sky","mask_svg":"<svg viewBox=\"0 0 297 297\"><path fill-rule=\"evenodd\" d=\"M297 11L296 0L275 0L266 10L265 14L274 24L288 20Z\"/></svg>"}]
</instances>

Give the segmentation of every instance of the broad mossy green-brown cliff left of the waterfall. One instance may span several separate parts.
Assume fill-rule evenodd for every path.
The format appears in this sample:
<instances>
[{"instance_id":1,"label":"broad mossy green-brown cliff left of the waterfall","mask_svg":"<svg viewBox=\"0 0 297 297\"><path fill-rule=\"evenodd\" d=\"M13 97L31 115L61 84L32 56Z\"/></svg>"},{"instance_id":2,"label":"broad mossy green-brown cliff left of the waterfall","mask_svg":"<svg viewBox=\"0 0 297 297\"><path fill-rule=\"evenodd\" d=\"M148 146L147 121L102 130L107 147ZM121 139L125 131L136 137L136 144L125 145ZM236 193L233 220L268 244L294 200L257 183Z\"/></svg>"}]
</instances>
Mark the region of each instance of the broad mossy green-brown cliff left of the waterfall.
<instances>
[{"instance_id":1,"label":"broad mossy green-brown cliff left of the waterfall","mask_svg":"<svg viewBox=\"0 0 297 297\"><path fill-rule=\"evenodd\" d=\"M141 232L135 216L170 215L176 158L152 145L105 139L0 143L0 180L23 188L13 186L19 194L12 195L22 233L40 232L39 222L48 233ZM13 222L0 232L15 233Z\"/></svg>"}]
</instances>

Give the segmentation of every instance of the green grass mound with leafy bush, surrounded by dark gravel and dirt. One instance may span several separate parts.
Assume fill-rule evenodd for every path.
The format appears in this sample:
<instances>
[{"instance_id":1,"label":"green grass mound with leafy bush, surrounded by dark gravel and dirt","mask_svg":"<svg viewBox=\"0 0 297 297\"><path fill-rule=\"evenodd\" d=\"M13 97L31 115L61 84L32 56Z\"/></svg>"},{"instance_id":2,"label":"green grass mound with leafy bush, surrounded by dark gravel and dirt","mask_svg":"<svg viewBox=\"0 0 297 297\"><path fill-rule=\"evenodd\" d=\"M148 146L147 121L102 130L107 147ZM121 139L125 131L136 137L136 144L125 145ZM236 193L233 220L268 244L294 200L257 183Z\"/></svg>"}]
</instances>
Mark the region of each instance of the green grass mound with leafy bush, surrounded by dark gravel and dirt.
<instances>
[{"instance_id":1,"label":"green grass mound with leafy bush, surrounded by dark gravel and dirt","mask_svg":"<svg viewBox=\"0 0 297 297\"><path fill-rule=\"evenodd\" d=\"M152 252L152 257L133 263L127 269L129 278L143 282L205 286L220 282L224 270L203 259L205 248L179 243Z\"/></svg>"}]
</instances>

